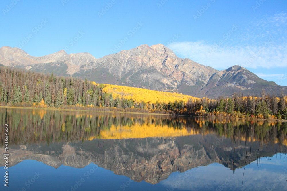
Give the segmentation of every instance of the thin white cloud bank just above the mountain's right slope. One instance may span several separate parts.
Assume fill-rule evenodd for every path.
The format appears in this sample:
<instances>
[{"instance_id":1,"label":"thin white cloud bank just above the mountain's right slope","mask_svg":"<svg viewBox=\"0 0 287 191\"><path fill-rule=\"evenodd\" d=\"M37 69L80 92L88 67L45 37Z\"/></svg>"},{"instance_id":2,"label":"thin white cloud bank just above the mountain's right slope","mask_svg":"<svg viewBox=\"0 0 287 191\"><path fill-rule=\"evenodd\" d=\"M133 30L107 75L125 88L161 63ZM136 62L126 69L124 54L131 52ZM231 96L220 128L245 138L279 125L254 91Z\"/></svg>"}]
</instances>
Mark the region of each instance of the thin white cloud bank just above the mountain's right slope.
<instances>
[{"instance_id":1,"label":"thin white cloud bank just above the mountain's right slope","mask_svg":"<svg viewBox=\"0 0 287 191\"><path fill-rule=\"evenodd\" d=\"M263 46L216 46L199 42L175 42L169 48L179 57L211 66L226 69L233 65L245 68L287 67L287 46L275 46L266 42Z\"/></svg>"}]
</instances>

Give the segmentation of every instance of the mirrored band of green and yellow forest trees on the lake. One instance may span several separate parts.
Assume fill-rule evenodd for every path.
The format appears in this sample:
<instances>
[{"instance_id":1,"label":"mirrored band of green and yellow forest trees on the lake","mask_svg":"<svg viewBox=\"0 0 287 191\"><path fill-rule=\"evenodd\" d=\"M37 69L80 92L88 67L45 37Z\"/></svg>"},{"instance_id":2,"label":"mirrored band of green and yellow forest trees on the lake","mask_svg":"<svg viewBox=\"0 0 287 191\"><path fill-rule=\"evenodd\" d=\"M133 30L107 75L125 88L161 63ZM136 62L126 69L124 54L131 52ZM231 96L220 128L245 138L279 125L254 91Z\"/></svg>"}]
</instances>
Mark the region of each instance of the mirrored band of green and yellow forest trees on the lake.
<instances>
[{"instance_id":1,"label":"mirrored band of green and yellow forest trees on the lake","mask_svg":"<svg viewBox=\"0 0 287 191\"><path fill-rule=\"evenodd\" d=\"M228 138L258 139L262 142L283 143L286 140L287 123L281 121L253 121L246 119L227 118L191 118L172 115L136 115L121 113L102 114L99 112L62 112L60 110L7 110L0 112L0 122L9 124L10 144L32 144L39 142L77 142L79 140L102 139L102 135L113 135L113 126L130 129L144 128L151 132L143 133L144 136L151 134L152 137L161 135L152 134L149 128L168 127L168 129L183 130L189 134L213 134ZM115 128L118 129L118 128ZM159 128L161 129L161 128ZM113 131L113 132L112 132ZM140 130L141 131L141 130ZM139 132L140 132L139 131ZM4 131L1 131L2 134ZM0 132L0 147L4 143L4 136ZM121 130L119 130L121 133ZM238 134L239 133L239 134ZM132 134L131 134L132 135ZM135 134L139 136L138 134ZM130 136L130 134L129 134ZM175 136L173 134L172 136ZM114 138L114 137L111 137ZM211 144L211 143L210 143Z\"/></svg>"}]
</instances>

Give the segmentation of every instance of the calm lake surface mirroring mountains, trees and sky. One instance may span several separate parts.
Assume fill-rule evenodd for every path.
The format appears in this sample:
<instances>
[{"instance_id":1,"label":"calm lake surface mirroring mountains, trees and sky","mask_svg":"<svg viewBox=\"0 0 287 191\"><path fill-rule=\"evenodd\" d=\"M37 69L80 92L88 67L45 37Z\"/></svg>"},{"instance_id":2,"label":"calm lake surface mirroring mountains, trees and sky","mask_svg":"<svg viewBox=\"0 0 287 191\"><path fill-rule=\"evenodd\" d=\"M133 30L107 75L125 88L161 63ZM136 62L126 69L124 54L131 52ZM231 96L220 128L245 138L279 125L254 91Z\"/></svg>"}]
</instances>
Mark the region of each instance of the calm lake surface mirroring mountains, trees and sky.
<instances>
[{"instance_id":1,"label":"calm lake surface mirroring mountains, trees and sky","mask_svg":"<svg viewBox=\"0 0 287 191\"><path fill-rule=\"evenodd\" d=\"M287 190L284 122L16 108L0 122L0 190Z\"/></svg>"}]
</instances>

